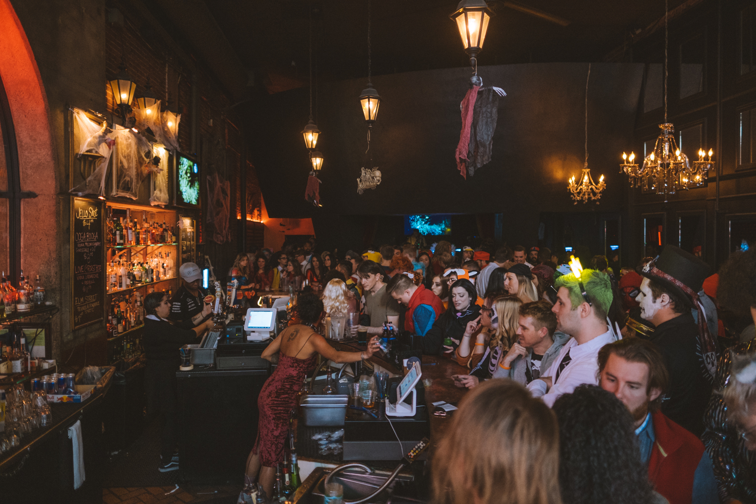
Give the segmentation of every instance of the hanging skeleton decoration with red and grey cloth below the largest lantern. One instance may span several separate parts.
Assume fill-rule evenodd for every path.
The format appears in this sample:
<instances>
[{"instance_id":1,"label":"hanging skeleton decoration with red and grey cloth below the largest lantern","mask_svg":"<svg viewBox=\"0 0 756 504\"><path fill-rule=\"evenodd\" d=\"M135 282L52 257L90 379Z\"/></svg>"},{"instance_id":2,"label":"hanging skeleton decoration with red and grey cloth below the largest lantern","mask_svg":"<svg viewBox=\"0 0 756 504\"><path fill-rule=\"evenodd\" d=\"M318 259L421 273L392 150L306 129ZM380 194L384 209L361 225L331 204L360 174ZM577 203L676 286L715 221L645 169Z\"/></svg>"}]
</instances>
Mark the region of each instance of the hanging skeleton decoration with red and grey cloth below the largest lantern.
<instances>
[{"instance_id":1,"label":"hanging skeleton decoration with red and grey cloth below the largest lantern","mask_svg":"<svg viewBox=\"0 0 756 504\"><path fill-rule=\"evenodd\" d=\"M507 96L502 88L482 88L481 85L482 79L478 77L460 104L462 131L454 156L457 169L465 179L468 173L472 177L476 169L491 161L499 97Z\"/></svg>"}]
</instances>

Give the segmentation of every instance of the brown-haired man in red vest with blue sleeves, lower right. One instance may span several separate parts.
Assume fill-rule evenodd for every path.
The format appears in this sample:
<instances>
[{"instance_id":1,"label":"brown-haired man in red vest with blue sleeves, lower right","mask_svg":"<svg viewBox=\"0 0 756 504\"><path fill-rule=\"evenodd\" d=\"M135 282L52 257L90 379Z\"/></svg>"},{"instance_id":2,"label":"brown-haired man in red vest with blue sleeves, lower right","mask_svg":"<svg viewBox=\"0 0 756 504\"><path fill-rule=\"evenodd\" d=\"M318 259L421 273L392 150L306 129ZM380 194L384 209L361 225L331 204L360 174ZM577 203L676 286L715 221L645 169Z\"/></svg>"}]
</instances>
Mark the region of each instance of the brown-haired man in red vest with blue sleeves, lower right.
<instances>
[{"instance_id":1,"label":"brown-haired man in red vest with blue sleeves, lower right","mask_svg":"<svg viewBox=\"0 0 756 504\"><path fill-rule=\"evenodd\" d=\"M598 360L601 388L615 394L633 415L640 457L648 464L654 490L670 504L719 502L703 443L659 411L669 382L662 354L652 343L631 337L605 345Z\"/></svg>"}]
</instances>

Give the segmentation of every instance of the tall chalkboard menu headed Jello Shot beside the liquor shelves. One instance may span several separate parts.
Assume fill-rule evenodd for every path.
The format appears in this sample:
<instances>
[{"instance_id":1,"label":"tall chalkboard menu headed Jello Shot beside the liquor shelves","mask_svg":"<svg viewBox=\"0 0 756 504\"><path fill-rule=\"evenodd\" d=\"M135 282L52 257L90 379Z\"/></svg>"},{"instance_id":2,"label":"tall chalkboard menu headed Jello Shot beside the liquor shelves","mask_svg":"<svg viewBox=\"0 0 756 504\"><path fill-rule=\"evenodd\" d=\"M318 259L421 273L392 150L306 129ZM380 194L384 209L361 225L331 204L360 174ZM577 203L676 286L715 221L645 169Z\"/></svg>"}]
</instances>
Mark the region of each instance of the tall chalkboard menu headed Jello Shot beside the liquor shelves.
<instances>
[{"instance_id":1,"label":"tall chalkboard menu headed Jello Shot beside the liquor shelves","mask_svg":"<svg viewBox=\"0 0 756 504\"><path fill-rule=\"evenodd\" d=\"M102 320L104 313L104 256L102 205L73 198L71 209L71 328Z\"/></svg>"}]
</instances>

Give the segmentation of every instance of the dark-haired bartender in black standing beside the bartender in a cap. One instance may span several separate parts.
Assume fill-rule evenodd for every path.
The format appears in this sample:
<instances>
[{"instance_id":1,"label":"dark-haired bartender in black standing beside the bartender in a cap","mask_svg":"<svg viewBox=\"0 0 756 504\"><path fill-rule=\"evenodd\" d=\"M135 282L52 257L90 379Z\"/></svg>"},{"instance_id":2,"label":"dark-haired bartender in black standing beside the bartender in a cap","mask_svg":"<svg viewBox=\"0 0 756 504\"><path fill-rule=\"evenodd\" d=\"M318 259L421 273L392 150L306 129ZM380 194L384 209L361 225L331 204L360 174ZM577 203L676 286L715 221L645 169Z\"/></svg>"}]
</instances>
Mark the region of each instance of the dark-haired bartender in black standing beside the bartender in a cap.
<instances>
[{"instance_id":1,"label":"dark-haired bartender in black standing beside the bartender in a cap","mask_svg":"<svg viewBox=\"0 0 756 504\"><path fill-rule=\"evenodd\" d=\"M205 305L209 312L209 305ZM178 469L176 446L176 371L181 363L179 348L194 343L206 330L212 328L212 319L194 326L191 318L184 322L168 320L172 305L165 292L150 292L144 298L144 355L147 366L144 373L147 388L147 413L150 417L163 413L163 430L160 433L160 472ZM203 309L200 308L200 314Z\"/></svg>"}]
</instances>

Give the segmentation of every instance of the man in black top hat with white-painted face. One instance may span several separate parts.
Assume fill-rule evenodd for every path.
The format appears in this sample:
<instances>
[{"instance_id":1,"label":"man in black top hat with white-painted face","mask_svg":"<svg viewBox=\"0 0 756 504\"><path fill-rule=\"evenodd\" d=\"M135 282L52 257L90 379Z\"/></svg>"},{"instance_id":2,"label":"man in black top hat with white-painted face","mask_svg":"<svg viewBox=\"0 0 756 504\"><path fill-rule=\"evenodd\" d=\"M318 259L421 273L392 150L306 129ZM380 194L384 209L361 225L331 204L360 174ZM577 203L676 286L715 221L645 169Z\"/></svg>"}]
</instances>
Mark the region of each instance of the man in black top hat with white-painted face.
<instances>
[{"instance_id":1,"label":"man in black top hat with white-painted face","mask_svg":"<svg viewBox=\"0 0 756 504\"><path fill-rule=\"evenodd\" d=\"M698 295L708 264L668 245L638 273L644 277L636 298L640 316L654 324L651 342L662 351L669 371L662 413L700 436L717 365L715 342ZM693 320L692 307L699 323Z\"/></svg>"}]
</instances>

